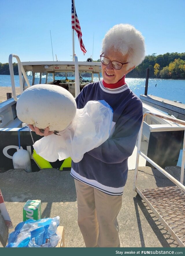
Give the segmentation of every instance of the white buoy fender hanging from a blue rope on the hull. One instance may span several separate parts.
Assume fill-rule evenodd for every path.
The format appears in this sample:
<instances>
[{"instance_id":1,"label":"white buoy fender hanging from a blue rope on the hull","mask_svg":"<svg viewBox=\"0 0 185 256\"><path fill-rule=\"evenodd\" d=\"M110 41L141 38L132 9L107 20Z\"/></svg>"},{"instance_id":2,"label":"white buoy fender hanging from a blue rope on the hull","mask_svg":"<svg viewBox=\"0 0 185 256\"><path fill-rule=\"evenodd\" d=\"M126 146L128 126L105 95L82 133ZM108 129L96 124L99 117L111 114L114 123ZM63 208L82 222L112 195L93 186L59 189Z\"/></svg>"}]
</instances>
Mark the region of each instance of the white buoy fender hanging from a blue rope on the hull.
<instances>
[{"instance_id":1,"label":"white buoy fender hanging from a blue rope on the hull","mask_svg":"<svg viewBox=\"0 0 185 256\"><path fill-rule=\"evenodd\" d=\"M24 169L27 173L32 172L31 160L27 150L18 147L12 160L14 169Z\"/></svg>"}]
</instances>

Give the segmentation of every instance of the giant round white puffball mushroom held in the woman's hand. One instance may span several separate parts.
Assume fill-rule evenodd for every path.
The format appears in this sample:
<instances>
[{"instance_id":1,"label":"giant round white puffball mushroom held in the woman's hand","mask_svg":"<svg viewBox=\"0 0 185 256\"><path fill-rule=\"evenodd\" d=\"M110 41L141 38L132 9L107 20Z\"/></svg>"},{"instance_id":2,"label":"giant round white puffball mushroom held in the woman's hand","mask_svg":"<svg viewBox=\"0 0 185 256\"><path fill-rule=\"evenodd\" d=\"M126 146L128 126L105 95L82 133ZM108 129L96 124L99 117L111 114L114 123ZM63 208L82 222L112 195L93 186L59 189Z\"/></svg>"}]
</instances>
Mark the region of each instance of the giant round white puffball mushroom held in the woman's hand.
<instances>
[{"instance_id":1,"label":"giant round white puffball mushroom held in the woman's hand","mask_svg":"<svg viewBox=\"0 0 185 256\"><path fill-rule=\"evenodd\" d=\"M18 98L17 117L26 124L50 131L65 130L76 114L76 102L66 89L51 84L36 84Z\"/></svg>"}]
</instances>

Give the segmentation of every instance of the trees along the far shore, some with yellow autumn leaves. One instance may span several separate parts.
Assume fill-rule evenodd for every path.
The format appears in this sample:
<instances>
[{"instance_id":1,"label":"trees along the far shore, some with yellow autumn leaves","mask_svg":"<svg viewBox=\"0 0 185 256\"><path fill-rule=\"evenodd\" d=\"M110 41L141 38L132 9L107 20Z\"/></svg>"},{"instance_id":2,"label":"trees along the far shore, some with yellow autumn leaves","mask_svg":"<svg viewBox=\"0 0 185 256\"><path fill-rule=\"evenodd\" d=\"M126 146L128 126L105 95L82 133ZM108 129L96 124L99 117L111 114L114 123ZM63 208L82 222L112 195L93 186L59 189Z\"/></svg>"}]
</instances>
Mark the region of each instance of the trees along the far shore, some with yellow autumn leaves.
<instances>
[{"instance_id":1,"label":"trees along the far shore, some with yellow autumn leaves","mask_svg":"<svg viewBox=\"0 0 185 256\"><path fill-rule=\"evenodd\" d=\"M100 62L100 59L96 62ZM13 63L13 68L14 75L18 75L17 63ZM145 78L147 68L150 69L150 78L185 79L185 52L147 55L140 65L127 74L127 77ZM8 63L0 63L0 75L10 75Z\"/></svg>"}]
</instances>

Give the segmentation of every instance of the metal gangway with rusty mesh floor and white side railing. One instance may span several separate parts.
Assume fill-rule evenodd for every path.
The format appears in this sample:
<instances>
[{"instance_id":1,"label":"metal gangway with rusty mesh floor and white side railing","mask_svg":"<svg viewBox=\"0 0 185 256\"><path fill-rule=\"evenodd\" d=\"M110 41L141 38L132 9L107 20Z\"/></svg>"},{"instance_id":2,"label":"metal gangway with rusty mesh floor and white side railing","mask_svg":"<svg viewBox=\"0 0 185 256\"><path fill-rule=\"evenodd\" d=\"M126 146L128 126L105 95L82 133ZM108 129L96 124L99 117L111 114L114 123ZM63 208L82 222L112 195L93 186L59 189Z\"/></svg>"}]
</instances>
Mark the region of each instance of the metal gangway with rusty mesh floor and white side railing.
<instances>
[{"instance_id":1,"label":"metal gangway with rusty mesh floor and white side railing","mask_svg":"<svg viewBox=\"0 0 185 256\"><path fill-rule=\"evenodd\" d=\"M181 161L181 175L180 182L175 179L172 175L166 172L158 164L147 157L143 152L141 152L141 139L143 131L144 119L147 115L159 117L169 121L173 121L177 124L184 125L185 132L185 121L180 119L175 119L172 117L163 116L160 114L155 114L152 112L145 112L143 114L143 122L138 135L138 146L137 146L137 156L136 156L136 168L134 173L134 186L133 190L136 191L140 197L145 201L147 206L153 211L153 213L158 217L162 225L168 230L170 235L177 241L181 247L185 247L185 218L184 218L184 200L185 200L185 186L184 181L184 164L185 164L185 133L182 149L182 161ZM182 130L182 126L179 127ZM172 145L173 146L173 145ZM154 168L158 169L162 174L164 174L168 179L170 179L177 186L164 187L164 188L144 188L139 189L137 185L138 178L138 165L140 155L145 158Z\"/></svg>"}]
</instances>

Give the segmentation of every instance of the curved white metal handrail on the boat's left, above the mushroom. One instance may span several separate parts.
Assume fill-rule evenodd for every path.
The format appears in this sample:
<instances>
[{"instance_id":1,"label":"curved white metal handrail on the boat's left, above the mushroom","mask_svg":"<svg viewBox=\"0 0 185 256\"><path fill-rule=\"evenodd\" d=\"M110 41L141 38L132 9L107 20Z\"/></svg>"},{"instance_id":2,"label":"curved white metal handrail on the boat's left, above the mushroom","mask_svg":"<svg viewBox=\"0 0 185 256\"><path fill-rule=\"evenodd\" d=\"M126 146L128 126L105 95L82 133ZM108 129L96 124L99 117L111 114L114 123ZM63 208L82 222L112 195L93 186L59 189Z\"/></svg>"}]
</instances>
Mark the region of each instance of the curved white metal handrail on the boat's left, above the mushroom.
<instances>
[{"instance_id":1,"label":"curved white metal handrail on the boat's left, above the mushroom","mask_svg":"<svg viewBox=\"0 0 185 256\"><path fill-rule=\"evenodd\" d=\"M17 101L17 96L16 96L16 90L15 90L15 81L14 81L14 69L13 69L13 62L12 62L12 59L13 57L16 58L17 60L17 64L18 64L18 75L19 75L19 83L20 83L20 92L22 93L23 92L23 80L22 80L22 74L23 74L23 77L27 83L27 86L30 87L30 83L27 79L27 76L26 76L26 73L24 71L24 68L23 68L23 65L19 59L19 57L16 55L16 54L10 54L9 56L9 69L10 69L10 79L11 79L11 84L12 84L12 94L13 94L13 98L15 101Z\"/></svg>"}]
</instances>

